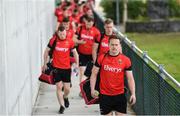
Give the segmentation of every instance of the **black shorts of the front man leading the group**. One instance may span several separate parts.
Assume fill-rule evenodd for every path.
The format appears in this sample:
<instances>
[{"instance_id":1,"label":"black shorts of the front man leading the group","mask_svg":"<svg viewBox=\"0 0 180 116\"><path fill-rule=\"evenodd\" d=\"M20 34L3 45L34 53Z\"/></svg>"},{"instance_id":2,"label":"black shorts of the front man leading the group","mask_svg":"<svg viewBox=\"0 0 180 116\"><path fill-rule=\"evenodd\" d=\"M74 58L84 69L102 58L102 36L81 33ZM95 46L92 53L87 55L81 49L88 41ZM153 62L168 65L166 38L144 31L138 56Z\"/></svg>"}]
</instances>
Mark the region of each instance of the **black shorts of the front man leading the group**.
<instances>
[{"instance_id":1,"label":"black shorts of the front man leading the group","mask_svg":"<svg viewBox=\"0 0 180 116\"><path fill-rule=\"evenodd\" d=\"M125 94L116 96L100 95L100 112L101 115L106 115L111 111L117 111L120 113L126 113L127 99Z\"/></svg>"}]
</instances>

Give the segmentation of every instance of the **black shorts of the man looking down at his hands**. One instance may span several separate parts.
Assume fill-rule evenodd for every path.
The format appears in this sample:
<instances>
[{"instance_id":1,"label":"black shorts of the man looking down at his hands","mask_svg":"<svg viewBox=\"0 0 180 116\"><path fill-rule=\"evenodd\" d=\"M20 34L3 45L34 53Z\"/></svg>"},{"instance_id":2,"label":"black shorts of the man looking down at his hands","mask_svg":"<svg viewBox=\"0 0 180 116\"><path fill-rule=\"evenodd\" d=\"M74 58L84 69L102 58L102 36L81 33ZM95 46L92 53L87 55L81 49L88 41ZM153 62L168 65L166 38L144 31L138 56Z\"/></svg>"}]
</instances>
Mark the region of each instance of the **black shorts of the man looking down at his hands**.
<instances>
[{"instance_id":1,"label":"black shorts of the man looking down at his hands","mask_svg":"<svg viewBox=\"0 0 180 116\"><path fill-rule=\"evenodd\" d=\"M93 61L92 55L84 55L79 53L79 66L86 66L88 62Z\"/></svg>"}]
</instances>

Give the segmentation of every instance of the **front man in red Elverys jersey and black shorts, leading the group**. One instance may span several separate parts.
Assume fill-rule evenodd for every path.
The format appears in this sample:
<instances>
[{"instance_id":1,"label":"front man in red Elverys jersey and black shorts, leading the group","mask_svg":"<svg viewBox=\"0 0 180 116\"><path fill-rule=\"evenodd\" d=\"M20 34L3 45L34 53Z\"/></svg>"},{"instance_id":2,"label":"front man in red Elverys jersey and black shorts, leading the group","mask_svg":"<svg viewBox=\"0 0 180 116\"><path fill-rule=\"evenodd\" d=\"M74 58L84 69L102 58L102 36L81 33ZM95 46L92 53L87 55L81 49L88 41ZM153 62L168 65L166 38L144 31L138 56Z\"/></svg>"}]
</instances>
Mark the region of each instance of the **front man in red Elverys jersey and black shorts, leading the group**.
<instances>
[{"instance_id":1,"label":"front man in red Elverys jersey and black shorts, leading the group","mask_svg":"<svg viewBox=\"0 0 180 116\"><path fill-rule=\"evenodd\" d=\"M96 60L90 77L91 95L97 97L95 83L100 70L100 111L102 115L122 115L126 113L127 100L124 93L124 75L126 74L131 92L130 103L135 104L135 82L130 59L121 53L120 39L115 35L109 38L109 52Z\"/></svg>"}]
</instances>

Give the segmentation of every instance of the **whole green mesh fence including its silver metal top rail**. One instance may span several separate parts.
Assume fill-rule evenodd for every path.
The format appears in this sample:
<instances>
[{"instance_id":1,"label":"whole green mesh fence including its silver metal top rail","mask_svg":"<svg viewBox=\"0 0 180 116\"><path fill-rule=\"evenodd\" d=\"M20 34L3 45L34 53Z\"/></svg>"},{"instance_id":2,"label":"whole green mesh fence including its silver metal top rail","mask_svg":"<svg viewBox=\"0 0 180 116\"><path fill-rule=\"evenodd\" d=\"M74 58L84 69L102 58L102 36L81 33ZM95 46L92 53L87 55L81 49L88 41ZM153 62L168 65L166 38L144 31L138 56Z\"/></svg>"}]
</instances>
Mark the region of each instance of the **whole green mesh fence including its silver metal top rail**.
<instances>
[{"instance_id":1,"label":"whole green mesh fence including its silver metal top rail","mask_svg":"<svg viewBox=\"0 0 180 116\"><path fill-rule=\"evenodd\" d=\"M101 32L103 29L103 16L96 12L96 26ZM180 114L180 94L177 88L180 88L177 82L168 74L161 64L152 60L147 52L143 52L131 42L126 36L114 28L114 32L123 40L123 54L128 56L132 61L132 70L136 83L137 102L132 106L137 115L178 115ZM153 65L151 65L151 64ZM155 68L156 69L155 69ZM172 81L177 88L174 88L167 80ZM129 97L130 94L127 94Z\"/></svg>"}]
</instances>

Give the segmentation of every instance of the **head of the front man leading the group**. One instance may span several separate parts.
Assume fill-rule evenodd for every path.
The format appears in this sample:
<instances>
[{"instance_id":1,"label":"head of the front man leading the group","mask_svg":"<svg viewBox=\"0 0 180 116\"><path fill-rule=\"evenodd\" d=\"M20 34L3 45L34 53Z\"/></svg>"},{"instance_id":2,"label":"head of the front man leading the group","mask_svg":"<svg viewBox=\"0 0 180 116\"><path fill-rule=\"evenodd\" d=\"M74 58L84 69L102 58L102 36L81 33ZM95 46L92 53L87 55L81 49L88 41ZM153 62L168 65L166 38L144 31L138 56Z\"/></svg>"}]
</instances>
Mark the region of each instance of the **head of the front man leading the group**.
<instances>
[{"instance_id":1,"label":"head of the front man leading the group","mask_svg":"<svg viewBox=\"0 0 180 116\"><path fill-rule=\"evenodd\" d=\"M121 40L116 35L109 37L109 53L114 56L122 53Z\"/></svg>"}]
</instances>

